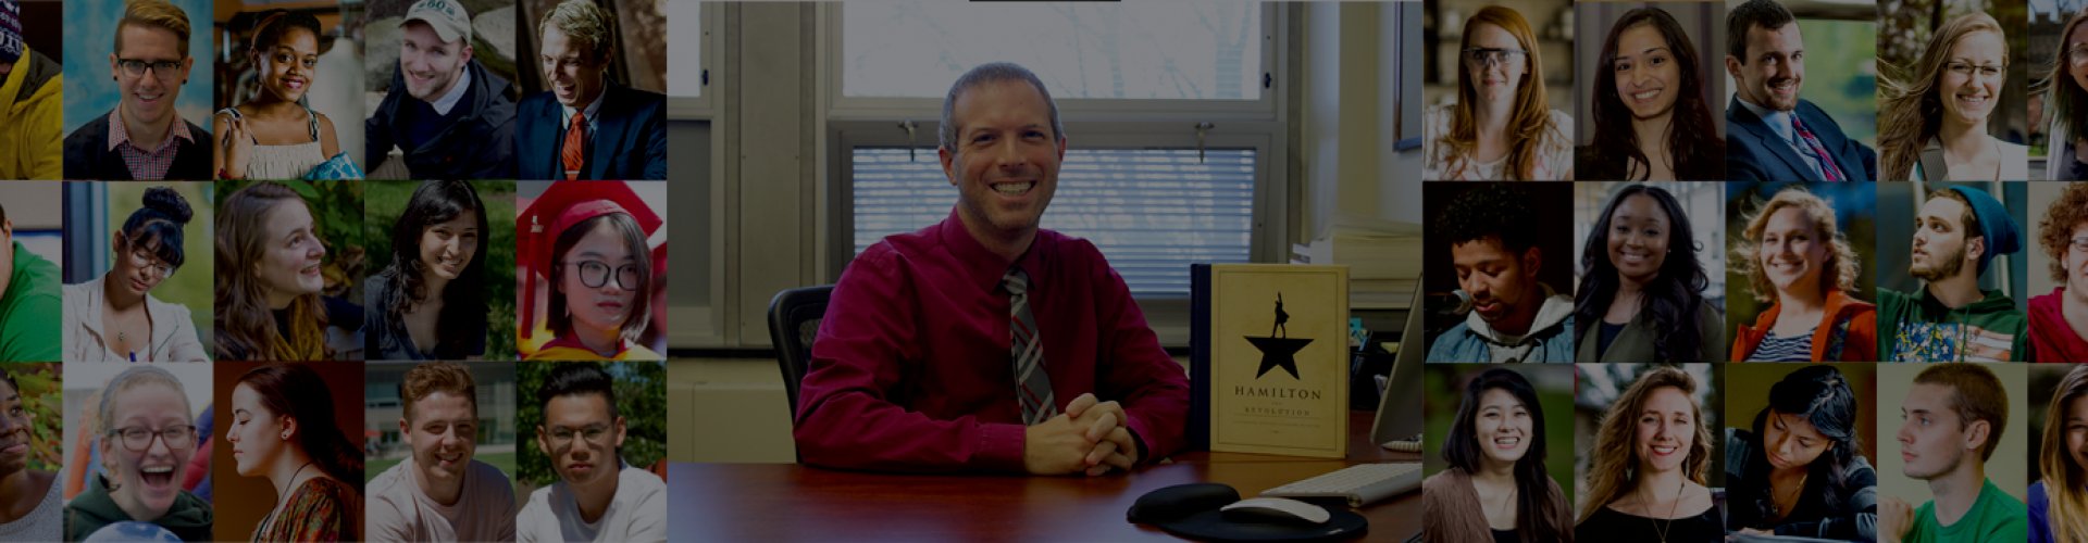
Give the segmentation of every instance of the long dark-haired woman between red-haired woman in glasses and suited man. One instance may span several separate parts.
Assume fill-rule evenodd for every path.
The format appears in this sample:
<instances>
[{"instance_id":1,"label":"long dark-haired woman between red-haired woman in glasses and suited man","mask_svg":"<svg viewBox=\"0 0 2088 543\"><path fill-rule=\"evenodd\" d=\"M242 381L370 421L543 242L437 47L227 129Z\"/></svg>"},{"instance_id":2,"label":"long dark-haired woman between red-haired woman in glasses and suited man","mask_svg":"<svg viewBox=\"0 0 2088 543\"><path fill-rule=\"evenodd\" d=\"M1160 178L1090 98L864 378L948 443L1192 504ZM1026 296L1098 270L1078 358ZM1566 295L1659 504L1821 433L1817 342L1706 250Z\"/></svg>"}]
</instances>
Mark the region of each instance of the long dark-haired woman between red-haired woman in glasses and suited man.
<instances>
[{"instance_id":1,"label":"long dark-haired woman between red-haired woman in glasses and suited man","mask_svg":"<svg viewBox=\"0 0 2088 543\"><path fill-rule=\"evenodd\" d=\"M1704 104L1704 65L1683 25L1662 8L1627 10L1601 40L1595 142L1581 146L1581 180L1725 180L1725 138Z\"/></svg>"}]
</instances>

